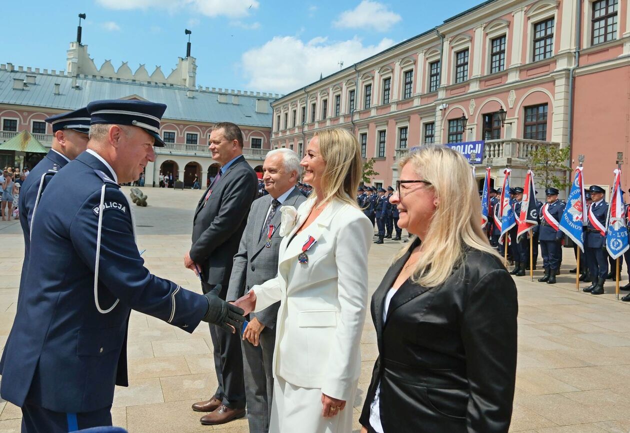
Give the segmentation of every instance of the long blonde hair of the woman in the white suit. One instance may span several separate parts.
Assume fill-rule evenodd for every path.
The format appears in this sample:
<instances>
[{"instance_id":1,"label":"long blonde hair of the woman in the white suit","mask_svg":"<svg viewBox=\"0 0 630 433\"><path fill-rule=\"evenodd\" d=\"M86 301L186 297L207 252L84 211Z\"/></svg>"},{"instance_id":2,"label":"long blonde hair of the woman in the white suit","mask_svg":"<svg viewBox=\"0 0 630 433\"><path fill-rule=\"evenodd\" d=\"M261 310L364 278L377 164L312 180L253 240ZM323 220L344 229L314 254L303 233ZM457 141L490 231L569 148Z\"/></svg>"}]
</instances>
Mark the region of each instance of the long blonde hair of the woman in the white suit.
<instances>
[{"instance_id":1,"label":"long blonde hair of the woman in the white suit","mask_svg":"<svg viewBox=\"0 0 630 433\"><path fill-rule=\"evenodd\" d=\"M323 129L319 138L319 153L326 163L321 177L324 199L321 204L339 199L358 207L354 193L363 175L363 159L357 137L341 128Z\"/></svg>"}]
</instances>

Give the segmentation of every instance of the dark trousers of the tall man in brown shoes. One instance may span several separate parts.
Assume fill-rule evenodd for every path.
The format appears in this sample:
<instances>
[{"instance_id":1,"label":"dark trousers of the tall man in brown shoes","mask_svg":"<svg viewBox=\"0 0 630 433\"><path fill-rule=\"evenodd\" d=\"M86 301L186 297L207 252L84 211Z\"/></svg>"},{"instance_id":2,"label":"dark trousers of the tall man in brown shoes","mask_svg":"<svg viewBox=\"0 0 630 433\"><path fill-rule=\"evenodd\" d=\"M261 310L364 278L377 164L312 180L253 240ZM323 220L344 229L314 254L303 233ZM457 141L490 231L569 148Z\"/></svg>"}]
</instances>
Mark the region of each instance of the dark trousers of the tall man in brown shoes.
<instances>
[{"instance_id":1,"label":"dark trousers of the tall man in brown shoes","mask_svg":"<svg viewBox=\"0 0 630 433\"><path fill-rule=\"evenodd\" d=\"M218 293L214 284L202 282L202 290L203 293L215 292L221 299L226 299L227 284ZM210 337L214 346L214 369L219 383L214 396L231 409L243 409L245 381L241 334L239 330L230 333L220 326L210 324Z\"/></svg>"}]
</instances>

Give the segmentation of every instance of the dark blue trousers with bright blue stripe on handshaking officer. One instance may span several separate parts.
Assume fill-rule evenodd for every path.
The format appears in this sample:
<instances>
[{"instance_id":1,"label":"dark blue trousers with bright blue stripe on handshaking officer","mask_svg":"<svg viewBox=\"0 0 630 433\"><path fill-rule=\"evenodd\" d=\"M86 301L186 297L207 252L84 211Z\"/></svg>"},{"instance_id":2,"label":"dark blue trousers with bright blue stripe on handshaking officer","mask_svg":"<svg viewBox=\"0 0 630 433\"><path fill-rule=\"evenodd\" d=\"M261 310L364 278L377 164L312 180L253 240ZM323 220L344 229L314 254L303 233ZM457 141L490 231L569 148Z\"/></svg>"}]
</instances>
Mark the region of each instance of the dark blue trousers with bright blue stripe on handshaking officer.
<instances>
[{"instance_id":1,"label":"dark blue trousers with bright blue stripe on handshaking officer","mask_svg":"<svg viewBox=\"0 0 630 433\"><path fill-rule=\"evenodd\" d=\"M41 406L24 403L22 433L67 433L91 427L112 425L112 407L93 412L54 412Z\"/></svg>"}]
</instances>

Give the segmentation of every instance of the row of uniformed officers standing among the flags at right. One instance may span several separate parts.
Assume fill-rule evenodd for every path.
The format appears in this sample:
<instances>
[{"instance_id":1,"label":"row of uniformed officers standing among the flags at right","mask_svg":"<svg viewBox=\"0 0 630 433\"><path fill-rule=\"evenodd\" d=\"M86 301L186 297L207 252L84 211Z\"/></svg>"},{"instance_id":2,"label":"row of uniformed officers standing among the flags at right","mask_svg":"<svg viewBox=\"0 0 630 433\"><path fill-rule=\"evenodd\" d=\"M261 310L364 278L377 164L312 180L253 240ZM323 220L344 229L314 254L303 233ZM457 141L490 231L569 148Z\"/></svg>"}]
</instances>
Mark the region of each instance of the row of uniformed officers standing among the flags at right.
<instances>
[{"instance_id":1,"label":"row of uniformed officers standing among the flags at right","mask_svg":"<svg viewBox=\"0 0 630 433\"><path fill-rule=\"evenodd\" d=\"M491 212L488 212L491 227L488 230L491 245L498 248L500 253L505 253L505 245L500 239L501 225L499 214L499 199L497 195L501 193L501 188L497 190L490 188L490 206ZM510 229L510 240L517 239L518 218L523 200L523 188L510 188L510 202L517 219L517 224ZM482 192L480 192L482 193ZM556 275L560 273L560 265L562 264L562 246L563 242L571 243L568 237L565 237L559 229L559 221L562 218L566 202L558 199L559 190L556 188L547 188L545 190L546 202L543 204L536 199L536 209L539 224L531 230L533 237L533 268L536 269L538 257L538 248L540 245L542 255L542 265L544 267L544 275L538 279L539 282L547 284L556 284ZM588 190L584 191L587 204L587 221L588 225L583 228L585 231L585 252L579 250L577 246L573 246L574 253L577 257L580 253L580 269L570 270L571 274L580 272L580 281L590 282L590 286L583 289L584 292L599 295L604 294L604 284L607 279L616 279L615 260L612 259L606 251L606 217L608 214L608 203L604 200L605 190L598 185L592 185ZM630 205L626 205L624 209L626 224L630 222ZM530 268L530 241L527 236L522 236L520 241L512 241L508 246L508 259L514 263L514 269L510 272L512 275L522 277L525 270ZM624 253L626 267L630 277L630 251ZM609 267L610 264L610 267ZM609 272L610 269L610 272ZM620 267L621 269L621 267ZM620 288L624 291L630 291L630 282ZM621 298L622 301L630 301L630 294Z\"/></svg>"}]
</instances>

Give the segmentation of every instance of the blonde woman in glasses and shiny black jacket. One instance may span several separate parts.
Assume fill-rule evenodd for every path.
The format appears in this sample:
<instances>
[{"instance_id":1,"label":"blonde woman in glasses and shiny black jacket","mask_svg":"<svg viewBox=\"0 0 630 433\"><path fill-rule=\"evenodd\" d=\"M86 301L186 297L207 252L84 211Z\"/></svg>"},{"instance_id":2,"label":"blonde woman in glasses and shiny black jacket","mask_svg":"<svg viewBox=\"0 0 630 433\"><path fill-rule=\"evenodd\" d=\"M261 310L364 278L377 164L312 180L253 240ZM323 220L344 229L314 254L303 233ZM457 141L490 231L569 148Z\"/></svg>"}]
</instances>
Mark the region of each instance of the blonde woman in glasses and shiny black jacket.
<instances>
[{"instance_id":1,"label":"blonde woman in glasses and shiny black jacket","mask_svg":"<svg viewBox=\"0 0 630 433\"><path fill-rule=\"evenodd\" d=\"M362 432L507 432L517 291L479 224L471 168L435 145L411 149L400 167L390 202L415 239L372 296L379 358Z\"/></svg>"}]
</instances>

